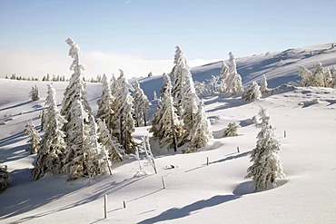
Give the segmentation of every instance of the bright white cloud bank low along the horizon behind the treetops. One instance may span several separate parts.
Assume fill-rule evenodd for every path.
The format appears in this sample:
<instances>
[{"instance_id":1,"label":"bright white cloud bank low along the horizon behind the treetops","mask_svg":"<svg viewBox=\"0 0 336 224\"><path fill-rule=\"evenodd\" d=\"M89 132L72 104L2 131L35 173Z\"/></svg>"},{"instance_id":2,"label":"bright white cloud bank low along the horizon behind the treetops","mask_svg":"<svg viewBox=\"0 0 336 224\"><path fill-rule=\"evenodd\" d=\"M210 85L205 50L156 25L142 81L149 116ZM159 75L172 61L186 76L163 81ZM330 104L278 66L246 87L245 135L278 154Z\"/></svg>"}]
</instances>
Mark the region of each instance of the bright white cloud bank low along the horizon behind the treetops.
<instances>
[{"instance_id":1,"label":"bright white cloud bank low along the horizon behind the treetops","mask_svg":"<svg viewBox=\"0 0 336 224\"><path fill-rule=\"evenodd\" d=\"M172 56L173 58L173 56ZM196 59L189 61L191 67L218 60ZM0 49L0 76L5 74L35 76L42 78L46 73L60 74L70 77L69 66L72 59L67 52L37 52L27 49L6 51ZM170 73L173 68L173 59L170 60L144 60L133 55L104 53L99 51L86 52L81 55L84 65L84 75L87 78L97 74L114 73L119 75L119 69L124 70L126 77L146 76L148 73Z\"/></svg>"}]
</instances>

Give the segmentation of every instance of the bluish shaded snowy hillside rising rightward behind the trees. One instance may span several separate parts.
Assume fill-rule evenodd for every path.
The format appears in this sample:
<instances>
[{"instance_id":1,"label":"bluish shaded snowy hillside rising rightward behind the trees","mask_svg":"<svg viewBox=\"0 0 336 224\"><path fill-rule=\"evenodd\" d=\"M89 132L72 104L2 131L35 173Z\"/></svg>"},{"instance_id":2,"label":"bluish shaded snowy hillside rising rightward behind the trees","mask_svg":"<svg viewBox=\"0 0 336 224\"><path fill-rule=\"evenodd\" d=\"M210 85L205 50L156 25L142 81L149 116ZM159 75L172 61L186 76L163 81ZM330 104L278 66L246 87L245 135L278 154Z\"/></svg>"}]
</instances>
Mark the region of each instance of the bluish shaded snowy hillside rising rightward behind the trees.
<instances>
[{"instance_id":1,"label":"bluish shaded snowy hillside rising rightward behind the trees","mask_svg":"<svg viewBox=\"0 0 336 224\"><path fill-rule=\"evenodd\" d=\"M234 53L233 53L234 54ZM229 56L225 59L227 60ZM238 73L242 75L244 85L253 81L260 82L265 74L270 87L299 80L298 66L311 68L314 63L323 66L336 65L336 47L331 44L288 49L281 53L258 54L236 59ZM192 68L193 80L204 82L221 73L222 62L204 64ZM159 93L158 87L163 83L162 75L139 80L144 93L152 100L153 91Z\"/></svg>"}]
</instances>

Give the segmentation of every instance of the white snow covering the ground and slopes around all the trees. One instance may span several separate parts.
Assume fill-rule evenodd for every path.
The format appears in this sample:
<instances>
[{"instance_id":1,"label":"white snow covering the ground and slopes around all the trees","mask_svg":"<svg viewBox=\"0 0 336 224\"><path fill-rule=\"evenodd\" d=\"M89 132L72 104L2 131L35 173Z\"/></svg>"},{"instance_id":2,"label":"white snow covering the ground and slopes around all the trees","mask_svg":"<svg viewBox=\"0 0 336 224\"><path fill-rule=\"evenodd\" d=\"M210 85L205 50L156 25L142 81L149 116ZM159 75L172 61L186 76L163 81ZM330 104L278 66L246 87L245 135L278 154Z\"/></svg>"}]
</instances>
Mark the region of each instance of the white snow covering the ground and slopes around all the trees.
<instances>
[{"instance_id":1,"label":"white snow covering the ground and slopes around all the trees","mask_svg":"<svg viewBox=\"0 0 336 224\"><path fill-rule=\"evenodd\" d=\"M336 52L323 50L329 45L237 59L238 73L245 85L261 80L265 71L272 77L268 76L272 87L295 81L298 65L336 64ZM308 55L311 51L317 54ZM282 66L276 65L280 58ZM193 75L203 81L214 71L219 74L220 63L194 68ZM140 81L149 99L153 90L161 88L160 80L153 76ZM160 151L153 144L158 174L143 160L144 174L131 157L114 164L112 176L66 181L59 175L34 181L30 175L35 155L25 151L23 131L29 119L39 127L47 83L0 79L0 157L12 177L9 188L0 194L0 223L335 223L336 90L282 86L255 102L204 95L213 140L191 154ZM41 99L31 102L28 93L35 84ZM66 85L53 84L58 103ZM101 87L100 83L87 84L94 112ZM252 181L244 176L259 131L251 122L259 105L267 108L281 141L286 179L276 189L253 192ZM222 138L229 122L242 126L239 136ZM136 141L140 142L148 129L136 128Z\"/></svg>"}]
</instances>

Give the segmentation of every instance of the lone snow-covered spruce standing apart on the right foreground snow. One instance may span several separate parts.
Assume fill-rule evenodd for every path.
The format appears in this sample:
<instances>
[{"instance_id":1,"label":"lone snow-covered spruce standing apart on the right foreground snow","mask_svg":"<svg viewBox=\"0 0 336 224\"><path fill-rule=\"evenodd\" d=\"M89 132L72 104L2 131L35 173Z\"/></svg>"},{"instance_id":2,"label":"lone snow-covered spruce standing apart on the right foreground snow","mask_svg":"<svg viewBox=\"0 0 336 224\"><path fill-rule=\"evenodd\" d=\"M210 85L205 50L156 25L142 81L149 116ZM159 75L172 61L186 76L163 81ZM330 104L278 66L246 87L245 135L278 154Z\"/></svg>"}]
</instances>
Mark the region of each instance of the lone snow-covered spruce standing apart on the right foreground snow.
<instances>
[{"instance_id":1,"label":"lone snow-covered spruce standing apart on the right foreground snow","mask_svg":"<svg viewBox=\"0 0 336 224\"><path fill-rule=\"evenodd\" d=\"M261 107L262 130L258 133L256 147L251 152L252 166L247 170L246 178L252 178L255 190L267 190L277 186L277 180L284 177L282 164L278 158L280 143L274 135L270 116Z\"/></svg>"}]
</instances>

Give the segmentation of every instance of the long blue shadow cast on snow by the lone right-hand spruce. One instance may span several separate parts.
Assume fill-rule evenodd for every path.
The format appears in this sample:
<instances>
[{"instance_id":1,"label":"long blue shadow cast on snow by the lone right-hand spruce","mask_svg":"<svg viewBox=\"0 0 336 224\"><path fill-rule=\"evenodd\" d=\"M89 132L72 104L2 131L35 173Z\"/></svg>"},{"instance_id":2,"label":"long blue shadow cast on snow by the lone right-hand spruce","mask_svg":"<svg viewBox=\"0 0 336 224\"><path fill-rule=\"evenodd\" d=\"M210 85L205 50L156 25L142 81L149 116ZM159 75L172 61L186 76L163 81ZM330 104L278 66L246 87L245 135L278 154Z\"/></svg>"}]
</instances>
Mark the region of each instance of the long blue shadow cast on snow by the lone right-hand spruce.
<instances>
[{"instance_id":1,"label":"long blue shadow cast on snow by the lone right-hand spruce","mask_svg":"<svg viewBox=\"0 0 336 224\"><path fill-rule=\"evenodd\" d=\"M165 220L173 220L173 219L182 219L183 217L187 217L191 215L192 212L211 208L217 205L221 205L222 203L231 201L231 200L237 200L241 198L241 196L237 195L216 195L213 196L211 199L208 200L198 200L194 202L193 204L184 206L183 208L173 208L163 211L158 216L155 216L150 219L144 219L143 221L138 222L139 224L145 224L145 223L156 223L159 221L165 221Z\"/></svg>"}]
</instances>

